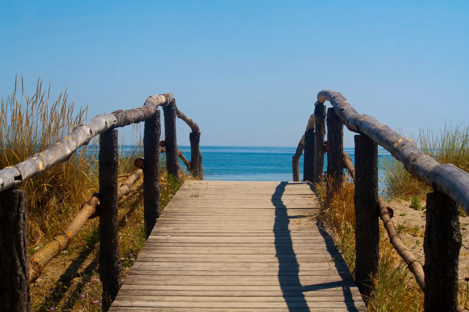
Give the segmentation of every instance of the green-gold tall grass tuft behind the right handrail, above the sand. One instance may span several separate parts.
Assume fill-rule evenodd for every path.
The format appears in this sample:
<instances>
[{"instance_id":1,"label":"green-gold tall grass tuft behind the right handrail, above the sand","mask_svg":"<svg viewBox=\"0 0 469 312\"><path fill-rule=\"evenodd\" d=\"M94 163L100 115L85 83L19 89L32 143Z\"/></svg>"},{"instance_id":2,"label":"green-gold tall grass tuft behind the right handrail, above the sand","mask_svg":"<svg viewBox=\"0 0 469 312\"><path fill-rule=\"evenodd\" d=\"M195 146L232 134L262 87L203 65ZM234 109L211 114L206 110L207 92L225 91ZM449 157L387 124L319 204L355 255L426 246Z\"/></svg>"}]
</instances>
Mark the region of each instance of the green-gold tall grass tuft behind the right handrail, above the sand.
<instances>
[{"instance_id":1,"label":"green-gold tall grass tuft behind the right handrail, above the sand","mask_svg":"<svg viewBox=\"0 0 469 312\"><path fill-rule=\"evenodd\" d=\"M469 172L469 125L463 127L461 124L445 124L438 133L420 129L418 136L411 138L422 152L432 156L439 163L454 164ZM417 196L425 199L426 194L432 191L430 186L413 178L401 162L392 156L383 157L381 169L386 187L384 195L387 198L409 200Z\"/></svg>"}]
</instances>

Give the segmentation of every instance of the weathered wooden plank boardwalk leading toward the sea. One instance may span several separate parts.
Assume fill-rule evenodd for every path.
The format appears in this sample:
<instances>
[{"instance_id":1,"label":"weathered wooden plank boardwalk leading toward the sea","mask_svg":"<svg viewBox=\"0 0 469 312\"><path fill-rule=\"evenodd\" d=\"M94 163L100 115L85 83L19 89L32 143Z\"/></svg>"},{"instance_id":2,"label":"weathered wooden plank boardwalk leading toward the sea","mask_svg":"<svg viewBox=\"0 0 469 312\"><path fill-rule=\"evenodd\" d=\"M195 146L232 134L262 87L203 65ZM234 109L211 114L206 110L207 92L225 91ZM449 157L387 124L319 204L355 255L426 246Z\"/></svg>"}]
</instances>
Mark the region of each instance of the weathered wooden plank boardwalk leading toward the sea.
<instances>
[{"instance_id":1,"label":"weathered wooden plank boardwalk leading toward the sea","mask_svg":"<svg viewBox=\"0 0 469 312\"><path fill-rule=\"evenodd\" d=\"M110 311L366 311L305 182L186 181Z\"/></svg>"}]
</instances>

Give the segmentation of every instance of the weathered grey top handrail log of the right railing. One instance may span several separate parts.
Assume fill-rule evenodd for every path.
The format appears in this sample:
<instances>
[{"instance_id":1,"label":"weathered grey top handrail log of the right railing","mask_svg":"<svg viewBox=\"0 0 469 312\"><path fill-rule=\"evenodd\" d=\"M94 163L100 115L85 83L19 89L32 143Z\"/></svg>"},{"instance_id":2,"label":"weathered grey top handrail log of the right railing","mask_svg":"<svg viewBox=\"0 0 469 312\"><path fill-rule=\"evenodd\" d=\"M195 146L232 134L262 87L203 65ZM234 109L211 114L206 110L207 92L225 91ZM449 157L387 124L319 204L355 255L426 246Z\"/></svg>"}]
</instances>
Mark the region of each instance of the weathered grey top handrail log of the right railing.
<instances>
[{"instance_id":1,"label":"weathered grey top handrail log of the right railing","mask_svg":"<svg viewBox=\"0 0 469 312\"><path fill-rule=\"evenodd\" d=\"M451 164L440 164L420 151L410 138L401 136L375 117L359 114L339 92L319 92L318 102L325 101L331 102L340 120L350 131L362 133L383 146L416 179L448 195L469 213L469 173Z\"/></svg>"}]
</instances>

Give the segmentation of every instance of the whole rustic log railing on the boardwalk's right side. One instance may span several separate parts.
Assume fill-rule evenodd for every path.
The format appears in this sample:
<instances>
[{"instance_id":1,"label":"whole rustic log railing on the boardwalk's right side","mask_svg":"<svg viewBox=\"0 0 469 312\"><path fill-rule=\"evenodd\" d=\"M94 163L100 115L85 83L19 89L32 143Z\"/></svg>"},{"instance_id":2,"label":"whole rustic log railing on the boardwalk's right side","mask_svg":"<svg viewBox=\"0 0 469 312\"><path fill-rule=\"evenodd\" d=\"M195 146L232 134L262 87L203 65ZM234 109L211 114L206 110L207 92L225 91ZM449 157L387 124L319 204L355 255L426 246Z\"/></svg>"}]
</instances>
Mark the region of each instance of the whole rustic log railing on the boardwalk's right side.
<instances>
[{"instance_id":1,"label":"whole rustic log railing on the boardwalk's right side","mask_svg":"<svg viewBox=\"0 0 469 312\"><path fill-rule=\"evenodd\" d=\"M333 106L327 109L327 118L325 101ZM308 134L313 129L311 119L314 120L314 133ZM469 212L469 174L454 165L438 163L420 151L410 138L401 136L372 116L359 114L342 94L333 90L318 93L310 122L293 157L293 179L299 181L297 163L303 147L303 179L313 183L323 181L324 153L327 152L326 174L328 179L333 177L333 184L327 185L328 194L340 188L343 168L352 174L356 210L355 278L360 292L364 296L371 294L371 276L378 273L378 222L381 218L391 244L424 291L424 311L462 311L462 307L457 306L461 248L458 207ZM344 124L348 130L358 133L355 136L355 167L348 154L343 152ZM402 243L384 200L378 197L378 145L399 160L414 178L434 189L427 194L424 266ZM314 163L312 174L311 163Z\"/></svg>"}]
</instances>

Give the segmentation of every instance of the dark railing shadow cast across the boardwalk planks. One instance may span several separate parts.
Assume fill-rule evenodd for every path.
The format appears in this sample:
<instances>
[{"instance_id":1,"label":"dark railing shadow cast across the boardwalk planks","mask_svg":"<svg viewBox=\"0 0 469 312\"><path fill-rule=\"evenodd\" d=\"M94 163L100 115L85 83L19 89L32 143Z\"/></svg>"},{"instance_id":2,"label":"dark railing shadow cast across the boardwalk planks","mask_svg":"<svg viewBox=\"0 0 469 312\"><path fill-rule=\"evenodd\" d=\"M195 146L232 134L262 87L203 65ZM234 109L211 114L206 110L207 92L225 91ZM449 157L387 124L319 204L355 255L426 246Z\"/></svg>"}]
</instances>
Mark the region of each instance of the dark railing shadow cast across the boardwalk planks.
<instances>
[{"instance_id":1,"label":"dark railing shadow cast across the boardwalk planks","mask_svg":"<svg viewBox=\"0 0 469 312\"><path fill-rule=\"evenodd\" d=\"M358 311L355 307L352 292L350 287L354 285L350 277L348 268L337 268L337 272L342 279L339 282L317 283L312 285L303 286L300 281L300 264L297 261L295 250L293 248L293 240L291 232L288 228L290 218L298 218L298 216L288 216L287 206L281 200L281 196L285 192L285 187L288 182L280 182L272 194L272 204L275 207L275 222L273 226L274 244L276 257L279 261L279 283L282 290L283 298L287 304L290 312L310 312L308 303L304 296L305 291L324 290L331 288L342 288L344 295L344 302L347 305L347 310ZM310 186L312 187L312 185ZM319 233L325 241L331 241L331 236L323 229L319 222L316 223ZM332 259L343 261L342 256L333 244L326 243L327 252L331 255ZM345 263L345 262L343 262Z\"/></svg>"}]
</instances>

